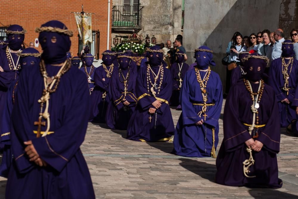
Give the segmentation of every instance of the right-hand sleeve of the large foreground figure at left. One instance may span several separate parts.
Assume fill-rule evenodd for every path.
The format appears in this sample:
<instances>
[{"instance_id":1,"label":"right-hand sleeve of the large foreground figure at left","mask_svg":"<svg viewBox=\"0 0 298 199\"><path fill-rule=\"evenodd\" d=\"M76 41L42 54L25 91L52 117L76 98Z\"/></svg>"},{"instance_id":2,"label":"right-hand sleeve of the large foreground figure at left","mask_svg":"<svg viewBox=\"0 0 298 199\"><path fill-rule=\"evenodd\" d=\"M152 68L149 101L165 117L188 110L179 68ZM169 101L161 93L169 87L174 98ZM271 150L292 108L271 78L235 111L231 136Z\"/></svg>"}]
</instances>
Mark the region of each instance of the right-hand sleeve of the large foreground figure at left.
<instances>
[{"instance_id":1,"label":"right-hand sleeve of the large foreground figure at left","mask_svg":"<svg viewBox=\"0 0 298 199\"><path fill-rule=\"evenodd\" d=\"M88 125L90 111L88 85L83 76L77 76L77 79L77 89L72 103L66 108L62 126L56 129L55 133L32 140L41 159L58 172L61 172L80 150Z\"/></svg>"}]
</instances>

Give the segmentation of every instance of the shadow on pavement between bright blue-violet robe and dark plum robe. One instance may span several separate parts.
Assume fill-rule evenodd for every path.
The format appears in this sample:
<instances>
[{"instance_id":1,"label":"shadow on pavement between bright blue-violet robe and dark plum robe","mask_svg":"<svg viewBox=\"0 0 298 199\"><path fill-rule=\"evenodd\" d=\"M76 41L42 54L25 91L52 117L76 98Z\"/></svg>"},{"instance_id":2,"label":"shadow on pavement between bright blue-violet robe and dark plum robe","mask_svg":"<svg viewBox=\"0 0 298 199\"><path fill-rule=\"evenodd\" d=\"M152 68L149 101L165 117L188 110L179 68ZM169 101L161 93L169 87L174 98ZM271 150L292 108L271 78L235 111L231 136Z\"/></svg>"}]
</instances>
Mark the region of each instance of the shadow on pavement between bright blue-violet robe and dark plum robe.
<instances>
[{"instance_id":1,"label":"shadow on pavement between bright blue-violet robe and dark plum robe","mask_svg":"<svg viewBox=\"0 0 298 199\"><path fill-rule=\"evenodd\" d=\"M179 158L179 160L181 160L181 163L179 164L188 171L193 172L194 174L197 174L211 182L215 182L215 165L187 158Z\"/></svg>"}]
</instances>

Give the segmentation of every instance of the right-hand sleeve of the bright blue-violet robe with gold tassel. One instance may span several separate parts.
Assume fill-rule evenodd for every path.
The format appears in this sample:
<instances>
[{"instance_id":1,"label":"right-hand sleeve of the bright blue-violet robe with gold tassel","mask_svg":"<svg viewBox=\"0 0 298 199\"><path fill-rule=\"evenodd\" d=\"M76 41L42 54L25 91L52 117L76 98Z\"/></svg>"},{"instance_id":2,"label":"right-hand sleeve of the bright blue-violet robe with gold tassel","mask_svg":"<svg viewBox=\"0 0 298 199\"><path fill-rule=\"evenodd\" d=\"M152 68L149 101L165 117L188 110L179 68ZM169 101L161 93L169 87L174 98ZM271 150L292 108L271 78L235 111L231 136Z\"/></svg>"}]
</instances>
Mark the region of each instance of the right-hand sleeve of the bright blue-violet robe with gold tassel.
<instances>
[{"instance_id":1,"label":"right-hand sleeve of the bright blue-violet robe with gold tassel","mask_svg":"<svg viewBox=\"0 0 298 199\"><path fill-rule=\"evenodd\" d=\"M214 95L214 106L210 106L210 109L207 111L207 118L204 121L205 123L213 126L213 127L217 127L218 126L218 120L219 117L221 115L221 107L222 107L222 103L223 103L223 88L221 85L221 80L219 78L219 76L215 76L215 78L217 79L216 82L216 90L215 90L215 95ZM208 107L207 107L208 108ZM203 118L204 119L204 118Z\"/></svg>"}]
</instances>

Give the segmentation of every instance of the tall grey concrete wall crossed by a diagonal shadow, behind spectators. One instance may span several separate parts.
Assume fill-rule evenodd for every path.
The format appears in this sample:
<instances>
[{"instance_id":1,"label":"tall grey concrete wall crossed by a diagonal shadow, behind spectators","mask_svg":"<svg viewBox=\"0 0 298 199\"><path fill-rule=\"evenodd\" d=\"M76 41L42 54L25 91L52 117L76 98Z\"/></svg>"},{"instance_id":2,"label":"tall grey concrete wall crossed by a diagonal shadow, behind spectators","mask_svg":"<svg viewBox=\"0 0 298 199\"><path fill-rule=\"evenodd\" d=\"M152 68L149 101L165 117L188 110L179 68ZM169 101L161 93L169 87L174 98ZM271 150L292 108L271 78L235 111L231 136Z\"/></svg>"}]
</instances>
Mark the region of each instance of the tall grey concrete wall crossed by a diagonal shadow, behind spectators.
<instances>
[{"instance_id":1,"label":"tall grey concrete wall crossed by a diagonal shadow, behind spectators","mask_svg":"<svg viewBox=\"0 0 298 199\"><path fill-rule=\"evenodd\" d=\"M226 67L221 65L233 34L243 36L279 26L282 0L185 0L183 46L187 62L194 62L194 49L207 45L214 51L217 72L225 87Z\"/></svg>"}]
</instances>

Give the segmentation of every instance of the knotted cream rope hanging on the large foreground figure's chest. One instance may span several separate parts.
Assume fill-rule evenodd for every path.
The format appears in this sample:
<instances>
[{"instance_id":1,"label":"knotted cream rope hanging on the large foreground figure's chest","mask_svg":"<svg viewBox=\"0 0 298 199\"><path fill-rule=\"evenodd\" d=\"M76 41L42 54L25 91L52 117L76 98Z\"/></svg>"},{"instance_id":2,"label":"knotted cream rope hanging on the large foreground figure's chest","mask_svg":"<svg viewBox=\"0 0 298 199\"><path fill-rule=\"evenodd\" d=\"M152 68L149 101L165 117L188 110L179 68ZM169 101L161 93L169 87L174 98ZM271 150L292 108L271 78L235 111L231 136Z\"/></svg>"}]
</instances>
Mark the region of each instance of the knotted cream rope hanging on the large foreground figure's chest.
<instances>
[{"instance_id":1,"label":"knotted cream rope hanging on the large foreground figure's chest","mask_svg":"<svg viewBox=\"0 0 298 199\"><path fill-rule=\"evenodd\" d=\"M59 77L61 75L61 72L65 68L67 61L68 60L66 60L64 62L64 64L62 65L62 67L58 71L58 73L56 75L57 77ZM44 101L46 102L46 108L44 109L44 112L42 112L43 105L41 105L41 111L40 111L40 114L39 114L40 115L39 118L44 118L47 121L46 131L42 135L42 137L45 137L48 134L49 129L50 129L50 114L49 114L50 92L49 92L49 90L53 88L53 86L55 85L55 82L56 82L57 79L56 78L53 79L51 85L48 85L48 83L46 82L47 77L44 74L43 74L43 77L44 77L44 88L45 88L44 91L45 91L45 94L43 96L41 96L41 98L38 100L38 103L42 103L43 104ZM49 88L49 89L46 89L46 88Z\"/></svg>"}]
</instances>

